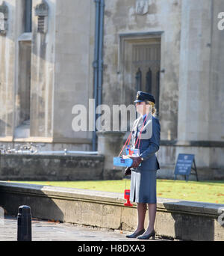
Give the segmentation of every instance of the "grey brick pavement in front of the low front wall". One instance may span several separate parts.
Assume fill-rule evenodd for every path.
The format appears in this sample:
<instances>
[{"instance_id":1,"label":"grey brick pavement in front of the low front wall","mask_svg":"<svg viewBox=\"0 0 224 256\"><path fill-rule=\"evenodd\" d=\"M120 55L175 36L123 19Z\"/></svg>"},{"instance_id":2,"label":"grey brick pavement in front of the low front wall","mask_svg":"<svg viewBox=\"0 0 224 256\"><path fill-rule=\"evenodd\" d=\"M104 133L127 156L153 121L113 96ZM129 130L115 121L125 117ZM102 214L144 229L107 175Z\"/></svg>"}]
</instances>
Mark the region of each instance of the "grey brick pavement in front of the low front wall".
<instances>
[{"instance_id":1,"label":"grey brick pavement in front of the low front wall","mask_svg":"<svg viewBox=\"0 0 224 256\"><path fill-rule=\"evenodd\" d=\"M3 222L0 222L0 241L16 241L17 219L6 217ZM32 241L140 241L138 239L128 239L125 237L126 234L131 234L131 232L32 220ZM158 238L156 240L160 241Z\"/></svg>"}]
</instances>

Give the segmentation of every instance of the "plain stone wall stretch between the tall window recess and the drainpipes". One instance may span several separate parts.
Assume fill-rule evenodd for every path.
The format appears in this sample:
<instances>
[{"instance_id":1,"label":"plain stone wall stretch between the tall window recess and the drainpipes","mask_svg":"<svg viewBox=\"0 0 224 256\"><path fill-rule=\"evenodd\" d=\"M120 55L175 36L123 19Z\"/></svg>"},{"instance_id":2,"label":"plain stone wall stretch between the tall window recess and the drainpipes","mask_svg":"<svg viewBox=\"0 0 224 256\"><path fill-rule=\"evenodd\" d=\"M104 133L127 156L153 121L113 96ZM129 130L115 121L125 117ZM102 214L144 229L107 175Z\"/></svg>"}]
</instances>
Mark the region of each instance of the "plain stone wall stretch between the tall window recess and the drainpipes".
<instances>
[{"instance_id":1,"label":"plain stone wall stretch between the tall window recess and the drainpipes","mask_svg":"<svg viewBox=\"0 0 224 256\"><path fill-rule=\"evenodd\" d=\"M93 57L95 43L94 1L55 1L55 80L53 139L91 149L92 133L72 129L73 106L89 109L93 99ZM63 121L62 121L63 120ZM88 124L89 125L89 124Z\"/></svg>"}]
</instances>

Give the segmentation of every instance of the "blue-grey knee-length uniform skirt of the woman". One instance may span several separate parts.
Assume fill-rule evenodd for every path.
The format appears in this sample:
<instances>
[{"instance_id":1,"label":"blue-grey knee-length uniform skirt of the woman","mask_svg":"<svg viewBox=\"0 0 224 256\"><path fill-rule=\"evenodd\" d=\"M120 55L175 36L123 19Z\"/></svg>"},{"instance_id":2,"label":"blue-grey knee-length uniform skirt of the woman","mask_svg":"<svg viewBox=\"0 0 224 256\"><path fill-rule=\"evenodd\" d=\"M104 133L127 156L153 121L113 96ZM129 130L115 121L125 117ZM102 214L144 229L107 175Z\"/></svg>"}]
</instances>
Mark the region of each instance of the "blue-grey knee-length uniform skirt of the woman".
<instances>
[{"instance_id":1,"label":"blue-grey knee-length uniform skirt of the woman","mask_svg":"<svg viewBox=\"0 0 224 256\"><path fill-rule=\"evenodd\" d=\"M155 171L140 171L131 169L130 201L135 203L156 204L156 174Z\"/></svg>"}]
</instances>

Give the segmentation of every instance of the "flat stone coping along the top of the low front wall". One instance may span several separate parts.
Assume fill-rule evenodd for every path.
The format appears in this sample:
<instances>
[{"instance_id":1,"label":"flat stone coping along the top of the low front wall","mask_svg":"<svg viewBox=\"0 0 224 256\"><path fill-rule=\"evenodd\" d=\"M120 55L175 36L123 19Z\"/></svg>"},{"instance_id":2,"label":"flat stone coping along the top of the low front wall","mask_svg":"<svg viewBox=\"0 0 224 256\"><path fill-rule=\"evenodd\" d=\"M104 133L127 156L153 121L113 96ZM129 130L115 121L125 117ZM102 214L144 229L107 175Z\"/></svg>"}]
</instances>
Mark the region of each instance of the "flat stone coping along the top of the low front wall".
<instances>
[{"instance_id":1,"label":"flat stone coping along the top of the low front wall","mask_svg":"<svg viewBox=\"0 0 224 256\"><path fill-rule=\"evenodd\" d=\"M41 186L0 181L0 193L1 192L125 207L123 194L114 192L100 192L86 189L69 189L56 186ZM136 207L137 204L134 203L134 208ZM157 205L158 211L161 212L208 216L214 219L217 219L218 216L220 216L219 209L221 207L224 209L224 204L182 201L168 198L158 198Z\"/></svg>"}]
</instances>

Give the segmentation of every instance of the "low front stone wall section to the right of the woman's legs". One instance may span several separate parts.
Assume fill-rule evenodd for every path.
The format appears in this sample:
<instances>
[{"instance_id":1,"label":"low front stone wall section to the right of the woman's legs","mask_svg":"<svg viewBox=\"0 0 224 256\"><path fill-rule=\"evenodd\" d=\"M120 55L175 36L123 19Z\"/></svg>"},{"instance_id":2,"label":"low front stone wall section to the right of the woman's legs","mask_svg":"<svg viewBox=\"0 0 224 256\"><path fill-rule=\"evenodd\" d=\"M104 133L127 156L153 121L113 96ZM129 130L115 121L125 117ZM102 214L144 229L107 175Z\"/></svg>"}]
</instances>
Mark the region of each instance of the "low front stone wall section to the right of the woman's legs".
<instances>
[{"instance_id":1,"label":"low front stone wall section to the right of the woman's legs","mask_svg":"<svg viewBox=\"0 0 224 256\"><path fill-rule=\"evenodd\" d=\"M160 234L184 241L220 240L224 234L224 224L219 223L219 209L224 204L210 204L193 201L164 202L164 210L158 213ZM170 213L169 216L167 212ZM164 215L164 216L163 216ZM165 224L165 225L164 225Z\"/></svg>"}]
</instances>

